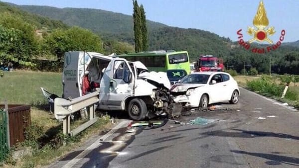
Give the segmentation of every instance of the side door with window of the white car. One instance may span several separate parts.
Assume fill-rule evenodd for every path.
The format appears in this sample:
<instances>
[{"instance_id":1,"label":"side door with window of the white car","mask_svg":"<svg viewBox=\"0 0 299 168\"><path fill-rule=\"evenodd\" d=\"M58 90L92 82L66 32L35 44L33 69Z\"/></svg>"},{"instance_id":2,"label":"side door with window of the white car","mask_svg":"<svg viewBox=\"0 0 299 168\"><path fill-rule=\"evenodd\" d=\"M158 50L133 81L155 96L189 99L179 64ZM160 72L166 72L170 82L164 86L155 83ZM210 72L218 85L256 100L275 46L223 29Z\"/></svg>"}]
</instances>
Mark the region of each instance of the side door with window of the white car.
<instances>
[{"instance_id":1,"label":"side door with window of the white car","mask_svg":"<svg viewBox=\"0 0 299 168\"><path fill-rule=\"evenodd\" d=\"M215 80L216 84L212 84L212 81ZM212 76L209 87L210 87L210 99L209 103L217 103L225 100L225 89L226 84L223 83L221 74L215 74Z\"/></svg>"}]
</instances>

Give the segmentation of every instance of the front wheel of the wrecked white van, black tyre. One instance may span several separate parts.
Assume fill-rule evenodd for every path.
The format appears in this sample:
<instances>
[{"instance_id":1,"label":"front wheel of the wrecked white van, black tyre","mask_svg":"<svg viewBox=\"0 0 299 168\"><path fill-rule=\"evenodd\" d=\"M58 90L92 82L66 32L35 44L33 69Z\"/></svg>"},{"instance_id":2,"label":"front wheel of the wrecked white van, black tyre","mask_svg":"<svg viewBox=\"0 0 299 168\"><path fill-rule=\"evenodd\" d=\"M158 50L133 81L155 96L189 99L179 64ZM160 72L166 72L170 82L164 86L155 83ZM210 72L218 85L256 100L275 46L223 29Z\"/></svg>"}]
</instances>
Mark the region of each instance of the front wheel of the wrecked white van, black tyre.
<instances>
[{"instance_id":1,"label":"front wheel of the wrecked white van, black tyre","mask_svg":"<svg viewBox=\"0 0 299 168\"><path fill-rule=\"evenodd\" d=\"M148 108L144 100L134 98L128 105L128 113L131 119L140 121L146 118Z\"/></svg>"}]
</instances>

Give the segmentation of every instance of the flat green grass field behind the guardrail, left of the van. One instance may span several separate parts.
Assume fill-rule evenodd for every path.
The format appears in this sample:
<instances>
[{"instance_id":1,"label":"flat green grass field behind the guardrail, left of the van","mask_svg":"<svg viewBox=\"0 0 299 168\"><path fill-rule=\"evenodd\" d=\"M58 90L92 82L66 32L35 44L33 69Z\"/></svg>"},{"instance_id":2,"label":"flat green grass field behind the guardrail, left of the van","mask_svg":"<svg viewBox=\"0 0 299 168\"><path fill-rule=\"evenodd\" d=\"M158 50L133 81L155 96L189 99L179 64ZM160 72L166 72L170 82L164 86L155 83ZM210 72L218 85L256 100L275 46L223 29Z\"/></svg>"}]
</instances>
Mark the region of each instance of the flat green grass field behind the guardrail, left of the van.
<instances>
[{"instance_id":1,"label":"flat green grass field behind the guardrail, left of the van","mask_svg":"<svg viewBox=\"0 0 299 168\"><path fill-rule=\"evenodd\" d=\"M4 72L0 78L0 103L36 104L44 102L45 98L40 87L49 92L62 95L62 74L28 71Z\"/></svg>"}]
</instances>

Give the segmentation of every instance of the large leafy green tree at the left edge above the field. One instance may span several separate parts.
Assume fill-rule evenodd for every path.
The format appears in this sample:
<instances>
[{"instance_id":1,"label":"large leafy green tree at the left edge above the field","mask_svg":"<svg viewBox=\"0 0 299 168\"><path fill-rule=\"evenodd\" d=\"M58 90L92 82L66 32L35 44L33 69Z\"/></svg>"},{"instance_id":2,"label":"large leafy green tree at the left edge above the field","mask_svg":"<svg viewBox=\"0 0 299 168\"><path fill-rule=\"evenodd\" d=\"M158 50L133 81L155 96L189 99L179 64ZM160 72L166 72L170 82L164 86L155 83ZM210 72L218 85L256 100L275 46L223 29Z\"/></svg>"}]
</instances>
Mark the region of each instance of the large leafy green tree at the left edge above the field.
<instances>
[{"instance_id":1,"label":"large leafy green tree at the left edge above the field","mask_svg":"<svg viewBox=\"0 0 299 168\"><path fill-rule=\"evenodd\" d=\"M37 53L38 44L34 27L10 14L0 20L0 59L12 61L15 66L33 67L32 56Z\"/></svg>"}]
</instances>

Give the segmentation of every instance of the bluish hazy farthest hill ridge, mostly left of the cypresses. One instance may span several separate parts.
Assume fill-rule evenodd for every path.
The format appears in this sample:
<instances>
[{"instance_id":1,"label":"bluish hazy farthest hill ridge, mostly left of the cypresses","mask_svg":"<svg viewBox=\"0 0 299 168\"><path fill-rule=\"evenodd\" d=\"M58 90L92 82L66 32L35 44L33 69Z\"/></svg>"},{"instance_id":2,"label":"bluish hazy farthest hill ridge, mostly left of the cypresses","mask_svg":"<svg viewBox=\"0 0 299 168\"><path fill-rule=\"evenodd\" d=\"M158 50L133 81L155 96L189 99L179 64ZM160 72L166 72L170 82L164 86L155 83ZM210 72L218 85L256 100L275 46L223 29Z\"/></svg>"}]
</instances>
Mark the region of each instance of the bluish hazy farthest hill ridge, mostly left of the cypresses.
<instances>
[{"instance_id":1,"label":"bluish hazy farthest hill ridge, mostly left of the cypresses","mask_svg":"<svg viewBox=\"0 0 299 168\"><path fill-rule=\"evenodd\" d=\"M97 33L133 33L134 23L132 15L89 8L57 8L36 5L16 6L28 12L61 20L71 26L76 25L88 28ZM147 23L150 30L166 26L150 20Z\"/></svg>"}]
</instances>

